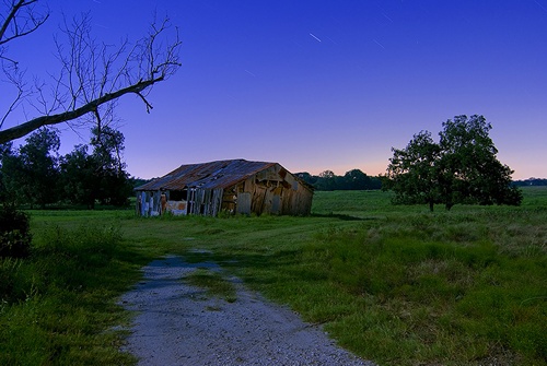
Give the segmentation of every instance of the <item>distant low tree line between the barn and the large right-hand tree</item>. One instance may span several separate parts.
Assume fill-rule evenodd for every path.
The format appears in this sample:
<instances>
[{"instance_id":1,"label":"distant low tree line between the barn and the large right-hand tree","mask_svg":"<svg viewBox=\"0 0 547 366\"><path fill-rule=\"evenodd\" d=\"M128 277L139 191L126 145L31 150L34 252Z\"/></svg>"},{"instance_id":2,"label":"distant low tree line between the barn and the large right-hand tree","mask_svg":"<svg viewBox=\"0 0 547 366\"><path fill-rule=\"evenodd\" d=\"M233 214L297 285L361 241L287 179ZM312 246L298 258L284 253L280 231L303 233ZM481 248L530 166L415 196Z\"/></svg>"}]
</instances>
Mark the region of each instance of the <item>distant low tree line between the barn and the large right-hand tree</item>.
<instances>
[{"instance_id":1,"label":"distant low tree line between the barn and the large right-hand tree","mask_svg":"<svg viewBox=\"0 0 547 366\"><path fill-rule=\"evenodd\" d=\"M311 175L307 172L296 173L295 176L315 188L315 190L372 190L381 189L381 177L368 176L360 169L347 172L344 176L337 176L331 170L325 170L319 175Z\"/></svg>"}]
</instances>

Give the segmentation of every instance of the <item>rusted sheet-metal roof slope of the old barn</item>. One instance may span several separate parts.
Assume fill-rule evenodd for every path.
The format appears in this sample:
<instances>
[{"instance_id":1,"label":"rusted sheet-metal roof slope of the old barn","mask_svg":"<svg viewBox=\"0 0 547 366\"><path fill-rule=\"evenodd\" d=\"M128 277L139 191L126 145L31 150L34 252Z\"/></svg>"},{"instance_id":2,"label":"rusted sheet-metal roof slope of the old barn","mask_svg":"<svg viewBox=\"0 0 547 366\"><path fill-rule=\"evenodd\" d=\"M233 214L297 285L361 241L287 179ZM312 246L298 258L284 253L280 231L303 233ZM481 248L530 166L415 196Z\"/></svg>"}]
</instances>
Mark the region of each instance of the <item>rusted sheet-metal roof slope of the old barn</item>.
<instances>
[{"instance_id":1,"label":"rusted sheet-metal roof slope of the old barn","mask_svg":"<svg viewBox=\"0 0 547 366\"><path fill-rule=\"evenodd\" d=\"M245 160L182 165L167 175L137 187L137 191L183 190L184 188L228 188L277 163Z\"/></svg>"}]
</instances>

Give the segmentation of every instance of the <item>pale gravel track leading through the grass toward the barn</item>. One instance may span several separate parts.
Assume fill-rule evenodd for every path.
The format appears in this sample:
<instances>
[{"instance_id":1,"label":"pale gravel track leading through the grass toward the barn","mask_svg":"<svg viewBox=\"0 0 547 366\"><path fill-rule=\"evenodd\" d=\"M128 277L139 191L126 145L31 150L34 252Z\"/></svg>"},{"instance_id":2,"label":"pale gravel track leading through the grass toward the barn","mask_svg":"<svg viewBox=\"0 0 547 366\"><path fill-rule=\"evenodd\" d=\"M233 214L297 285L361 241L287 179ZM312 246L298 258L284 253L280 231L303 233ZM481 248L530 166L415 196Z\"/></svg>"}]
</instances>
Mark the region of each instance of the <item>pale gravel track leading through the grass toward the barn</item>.
<instances>
[{"instance_id":1,"label":"pale gravel track leading through the grass toward the barn","mask_svg":"<svg viewBox=\"0 0 547 366\"><path fill-rule=\"evenodd\" d=\"M144 267L144 280L120 304L137 311L124 351L139 365L366 365L338 347L321 327L248 291L237 279L236 300L206 295L181 279L197 268L165 257Z\"/></svg>"}]
</instances>

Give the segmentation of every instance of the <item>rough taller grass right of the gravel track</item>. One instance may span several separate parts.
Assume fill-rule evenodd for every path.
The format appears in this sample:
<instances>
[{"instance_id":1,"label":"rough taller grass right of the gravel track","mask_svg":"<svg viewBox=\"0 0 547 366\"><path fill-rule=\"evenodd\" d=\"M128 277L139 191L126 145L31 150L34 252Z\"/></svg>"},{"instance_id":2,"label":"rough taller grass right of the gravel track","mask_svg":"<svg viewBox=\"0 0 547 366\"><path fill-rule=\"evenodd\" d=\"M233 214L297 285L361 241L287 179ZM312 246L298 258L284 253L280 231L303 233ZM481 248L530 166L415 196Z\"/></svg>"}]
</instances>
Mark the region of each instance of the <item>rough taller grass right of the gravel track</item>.
<instances>
[{"instance_id":1,"label":"rough taller grass right of the gravel track","mask_svg":"<svg viewBox=\"0 0 547 366\"><path fill-rule=\"evenodd\" d=\"M364 356L396 365L544 364L545 241L507 248L508 235L484 214L418 215L318 234L301 260L353 296L354 311L327 329Z\"/></svg>"}]
</instances>

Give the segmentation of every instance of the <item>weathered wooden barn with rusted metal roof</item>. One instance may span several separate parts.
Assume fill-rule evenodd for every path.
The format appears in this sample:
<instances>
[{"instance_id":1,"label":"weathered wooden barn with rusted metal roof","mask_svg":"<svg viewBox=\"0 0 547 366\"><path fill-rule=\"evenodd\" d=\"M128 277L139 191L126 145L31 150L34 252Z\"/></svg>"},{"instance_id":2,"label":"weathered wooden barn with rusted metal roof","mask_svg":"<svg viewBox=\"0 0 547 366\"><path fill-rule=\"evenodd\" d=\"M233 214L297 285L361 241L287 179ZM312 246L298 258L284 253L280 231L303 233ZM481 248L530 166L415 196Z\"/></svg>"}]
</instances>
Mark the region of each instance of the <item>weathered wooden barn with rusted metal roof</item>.
<instances>
[{"instance_id":1,"label":"weathered wooden barn with rusted metal roof","mask_svg":"<svg viewBox=\"0 0 547 366\"><path fill-rule=\"evenodd\" d=\"M140 215L307 215L313 188L278 163L219 161L182 165L137 187Z\"/></svg>"}]
</instances>

